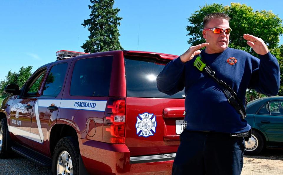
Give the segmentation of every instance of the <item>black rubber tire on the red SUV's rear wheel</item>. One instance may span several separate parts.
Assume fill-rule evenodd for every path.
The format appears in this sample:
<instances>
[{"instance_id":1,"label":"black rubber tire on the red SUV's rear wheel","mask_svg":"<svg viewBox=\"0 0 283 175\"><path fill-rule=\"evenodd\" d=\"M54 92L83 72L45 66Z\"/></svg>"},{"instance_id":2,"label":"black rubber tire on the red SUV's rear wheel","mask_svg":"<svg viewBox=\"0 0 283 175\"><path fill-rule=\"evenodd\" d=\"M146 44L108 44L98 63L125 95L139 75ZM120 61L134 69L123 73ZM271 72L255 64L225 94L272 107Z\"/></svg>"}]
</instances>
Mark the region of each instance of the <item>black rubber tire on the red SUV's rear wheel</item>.
<instances>
[{"instance_id":1,"label":"black rubber tire on the red SUV's rear wheel","mask_svg":"<svg viewBox=\"0 0 283 175\"><path fill-rule=\"evenodd\" d=\"M68 169L70 167L70 164L68 162L64 163L61 167L64 167L63 171L66 171L66 175L68 173L71 173L71 170L73 172L73 175L78 175L79 174L79 157L80 157L80 150L79 150L79 145L78 145L78 139L73 138L73 137L64 137L61 138L58 143L55 146L54 153L53 153L53 160L52 160L52 174L57 175L57 163L58 160L61 160L61 154L67 152L68 158L71 158L72 160L72 169ZM66 166L65 166L66 165ZM67 167L67 168L65 168ZM63 173L64 174L64 173Z\"/></svg>"}]
</instances>

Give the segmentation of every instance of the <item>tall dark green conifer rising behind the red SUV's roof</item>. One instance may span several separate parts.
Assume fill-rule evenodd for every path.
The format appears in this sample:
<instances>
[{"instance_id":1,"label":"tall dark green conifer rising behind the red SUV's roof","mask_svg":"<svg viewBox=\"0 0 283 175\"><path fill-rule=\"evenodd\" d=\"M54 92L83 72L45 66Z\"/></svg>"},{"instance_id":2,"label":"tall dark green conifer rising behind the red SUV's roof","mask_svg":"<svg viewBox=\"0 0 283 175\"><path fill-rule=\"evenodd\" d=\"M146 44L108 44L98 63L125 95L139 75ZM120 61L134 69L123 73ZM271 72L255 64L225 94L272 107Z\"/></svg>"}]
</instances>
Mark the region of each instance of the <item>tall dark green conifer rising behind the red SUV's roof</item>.
<instances>
[{"instance_id":1,"label":"tall dark green conifer rising behind the red SUV's roof","mask_svg":"<svg viewBox=\"0 0 283 175\"><path fill-rule=\"evenodd\" d=\"M113 9L114 0L91 0L92 5L89 19L85 19L83 27L87 27L90 35L82 48L87 53L103 52L110 50L122 50L119 42L119 30L121 17L118 17L120 9Z\"/></svg>"}]
</instances>

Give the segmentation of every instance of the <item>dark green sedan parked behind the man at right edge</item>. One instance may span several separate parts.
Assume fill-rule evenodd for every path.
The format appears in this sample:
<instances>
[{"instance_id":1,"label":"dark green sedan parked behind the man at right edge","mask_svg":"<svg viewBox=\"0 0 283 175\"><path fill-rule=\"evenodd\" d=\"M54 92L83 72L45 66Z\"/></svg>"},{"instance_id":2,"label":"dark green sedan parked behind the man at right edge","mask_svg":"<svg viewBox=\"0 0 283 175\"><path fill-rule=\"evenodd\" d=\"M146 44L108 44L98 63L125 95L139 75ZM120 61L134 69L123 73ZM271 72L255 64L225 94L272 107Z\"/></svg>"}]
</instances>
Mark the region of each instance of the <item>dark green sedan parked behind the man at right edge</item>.
<instances>
[{"instance_id":1,"label":"dark green sedan parked behind the man at right edge","mask_svg":"<svg viewBox=\"0 0 283 175\"><path fill-rule=\"evenodd\" d=\"M250 101L246 111L252 135L246 142L245 154L256 155L263 148L283 148L283 96Z\"/></svg>"}]
</instances>

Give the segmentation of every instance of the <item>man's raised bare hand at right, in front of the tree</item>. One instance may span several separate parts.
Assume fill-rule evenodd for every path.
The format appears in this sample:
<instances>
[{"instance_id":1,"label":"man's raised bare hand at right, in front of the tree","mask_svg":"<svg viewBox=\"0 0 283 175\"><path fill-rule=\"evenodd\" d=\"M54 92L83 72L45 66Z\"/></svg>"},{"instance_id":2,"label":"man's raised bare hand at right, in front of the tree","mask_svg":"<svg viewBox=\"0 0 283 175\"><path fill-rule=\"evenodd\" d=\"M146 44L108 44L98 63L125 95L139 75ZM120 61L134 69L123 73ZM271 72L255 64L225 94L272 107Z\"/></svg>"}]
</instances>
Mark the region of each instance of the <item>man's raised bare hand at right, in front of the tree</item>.
<instances>
[{"instance_id":1,"label":"man's raised bare hand at right, in front of the tree","mask_svg":"<svg viewBox=\"0 0 283 175\"><path fill-rule=\"evenodd\" d=\"M247 44L251 46L251 48L254 49L254 52L256 52L259 55L265 55L269 52L266 44L261 38L255 37L250 34L244 34L244 39L248 40Z\"/></svg>"}]
</instances>

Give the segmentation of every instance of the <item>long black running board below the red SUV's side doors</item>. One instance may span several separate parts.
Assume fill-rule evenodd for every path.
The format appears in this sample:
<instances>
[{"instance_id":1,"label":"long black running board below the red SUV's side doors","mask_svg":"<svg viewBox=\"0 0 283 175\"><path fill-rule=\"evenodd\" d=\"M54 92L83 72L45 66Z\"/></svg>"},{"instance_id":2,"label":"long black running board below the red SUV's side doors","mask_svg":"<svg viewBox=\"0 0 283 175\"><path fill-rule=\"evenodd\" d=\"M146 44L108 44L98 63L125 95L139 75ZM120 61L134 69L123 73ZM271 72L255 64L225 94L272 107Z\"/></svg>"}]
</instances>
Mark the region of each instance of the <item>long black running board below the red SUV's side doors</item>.
<instances>
[{"instance_id":1,"label":"long black running board below the red SUV's side doors","mask_svg":"<svg viewBox=\"0 0 283 175\"><path fill-rule=\"evenodd\" d=\"M49 157L41 153L38 153L32 149L29 149L24 146L12 146L11 148L14 152L26 157L27 159L31 161L34 161L37 164L40 164L41 166L51 166L52 165L52 160Z\"/></svg>"}]
</instances>

